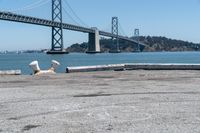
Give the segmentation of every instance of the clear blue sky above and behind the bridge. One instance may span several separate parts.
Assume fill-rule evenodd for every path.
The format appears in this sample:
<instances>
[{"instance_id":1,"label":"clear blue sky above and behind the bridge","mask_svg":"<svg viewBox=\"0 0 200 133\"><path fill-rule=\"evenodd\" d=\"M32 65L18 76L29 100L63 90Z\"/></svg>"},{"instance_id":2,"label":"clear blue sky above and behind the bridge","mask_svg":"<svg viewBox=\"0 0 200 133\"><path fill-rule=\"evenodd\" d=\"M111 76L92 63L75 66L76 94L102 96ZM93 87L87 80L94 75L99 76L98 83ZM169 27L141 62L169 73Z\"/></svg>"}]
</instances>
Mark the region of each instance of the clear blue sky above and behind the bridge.
<instances>
[{"instance_id":1,"label":"clear blue sky above and behind the bridge","mask_svg":"<svg viewBox=\"0 0 200 133\"><path fill-rule=\"evenodd\" d=\"M51 0L40 7L37 7L37 1L47 0L0 0L0 10L15 10L19 14L51 19ZM109 31L111 17L118 16L127 36L132 36L134 28L139 28L140 35L144 36L200 42L200 0L67 1L90 27ZM66 4L63 6L73 16L69 7ZM75 24L64 12L63 17L64 22ZM0 50L42 49L51 46L51 28L48 27L1 20L0 31ZM85 33L64 31L65 47L87 40L88 35Z\"/></svg>"}]
</instances>

